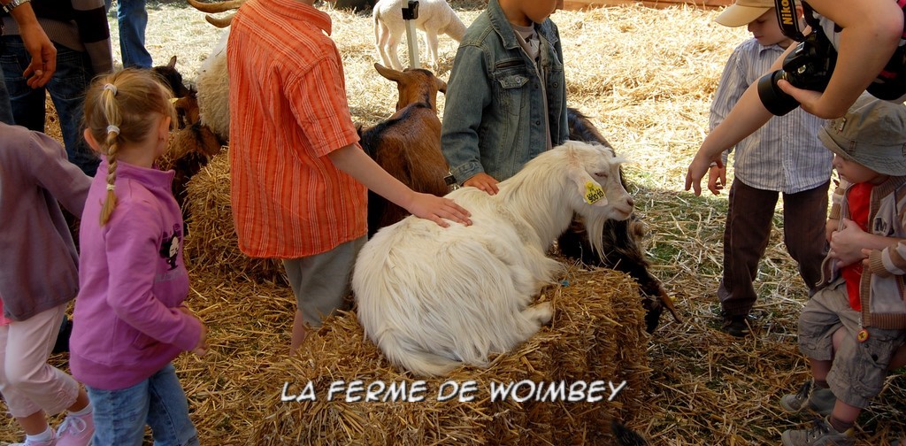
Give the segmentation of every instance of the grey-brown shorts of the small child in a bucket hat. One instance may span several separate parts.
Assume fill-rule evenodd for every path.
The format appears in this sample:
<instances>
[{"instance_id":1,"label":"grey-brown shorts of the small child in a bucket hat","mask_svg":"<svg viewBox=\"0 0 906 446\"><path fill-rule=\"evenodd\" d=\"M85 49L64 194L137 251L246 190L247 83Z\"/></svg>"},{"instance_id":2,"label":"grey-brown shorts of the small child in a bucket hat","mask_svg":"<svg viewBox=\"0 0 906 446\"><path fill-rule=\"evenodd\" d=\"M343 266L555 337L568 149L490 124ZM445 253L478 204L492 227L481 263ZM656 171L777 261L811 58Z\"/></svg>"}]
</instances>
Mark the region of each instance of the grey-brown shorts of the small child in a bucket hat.
<instances>
[{"instance_id":1,"label":"grey-brown shorts of the small child in a bucket hat","mask_svg":"<svg viewBox=\"0 0 906 446\"><path fill-rule=\"evenodd\" d=\"M882 330L869 327L868 339L856 340L861 315L849 305L846 283L839 279L812 296L799 315L799 350L819 360L834 360L827 383L837 399L859 408L881 393L891 356L903 340L906 330ZM833 335L843 327L845 336L834 353Z\"/></svg>"}]
</instances>

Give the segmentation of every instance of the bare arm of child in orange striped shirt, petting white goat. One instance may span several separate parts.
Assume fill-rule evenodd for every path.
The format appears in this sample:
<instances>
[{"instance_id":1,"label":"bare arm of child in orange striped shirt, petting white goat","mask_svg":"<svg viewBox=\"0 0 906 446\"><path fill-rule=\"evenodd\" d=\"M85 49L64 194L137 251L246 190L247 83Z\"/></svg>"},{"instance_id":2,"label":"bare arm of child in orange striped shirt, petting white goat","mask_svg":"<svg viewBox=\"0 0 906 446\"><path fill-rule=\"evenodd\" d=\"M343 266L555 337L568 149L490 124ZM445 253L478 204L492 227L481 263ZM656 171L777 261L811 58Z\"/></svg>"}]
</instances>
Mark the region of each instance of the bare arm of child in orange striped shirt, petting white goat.
<instances>
[{"instance_id":1,"label":"bare arm of child in orange striped shirt, petting white goat","mask_svg":"<svg viewBox=\"0 0 906 446\"><path fill-rule=\"evenodd\" d=\"M327 155L340 170L348 173L374 193L404 208L416 217L427 218L447 228L444 218L471 225L469 213L452 199L415 192L393 178L355 144L333 150Z\"/></svg>"}]
</instances>

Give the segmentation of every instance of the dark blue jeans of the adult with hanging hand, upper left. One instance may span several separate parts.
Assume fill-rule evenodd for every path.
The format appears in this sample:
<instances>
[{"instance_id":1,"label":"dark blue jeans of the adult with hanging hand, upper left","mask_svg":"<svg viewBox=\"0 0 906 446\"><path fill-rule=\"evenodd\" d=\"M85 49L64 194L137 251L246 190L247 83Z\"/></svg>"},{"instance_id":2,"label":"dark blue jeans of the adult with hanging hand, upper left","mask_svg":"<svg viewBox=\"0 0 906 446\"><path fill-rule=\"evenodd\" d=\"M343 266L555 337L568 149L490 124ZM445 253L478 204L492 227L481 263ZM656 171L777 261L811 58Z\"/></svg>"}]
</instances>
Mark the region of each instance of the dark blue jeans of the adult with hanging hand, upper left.
<instances>
[{"instance_id":1,"label":"dark blue jeans of the adult with hanging hand, upper left","mask_svg":"<svg viewBox=\"0 0 906 446\"><path fill-rule=\"evenodd\" d=\"M43 88L33 89L22 75L32 61L22 38L18 35L5 35L2 39L5 48L0 54L0 67L3 67L5 87L13 107L14 123L33 131L44 131L44 117L47 113L44 103L47 92L50 92L53 106L60 116L63 145L70 162L93 177L100 160L82 138L82 103L93 73L88 53L55 44L56 72Z\"/></svg>"}]
</instances>

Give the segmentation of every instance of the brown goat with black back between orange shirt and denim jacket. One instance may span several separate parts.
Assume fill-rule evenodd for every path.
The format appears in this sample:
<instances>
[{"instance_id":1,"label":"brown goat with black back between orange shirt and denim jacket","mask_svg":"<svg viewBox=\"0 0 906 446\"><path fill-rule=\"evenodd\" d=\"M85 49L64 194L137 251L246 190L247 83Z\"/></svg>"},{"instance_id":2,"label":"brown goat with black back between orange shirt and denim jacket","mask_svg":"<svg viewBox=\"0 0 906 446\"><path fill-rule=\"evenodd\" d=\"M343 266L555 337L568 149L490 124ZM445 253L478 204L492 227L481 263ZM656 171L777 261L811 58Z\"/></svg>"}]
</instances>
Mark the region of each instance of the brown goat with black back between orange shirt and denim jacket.
<instances>
[{"instance_id":1,"label":"brown goat with black back between orange shirt and denim jacket","mask_svg":"<svg viewBox=\"0 0 906 446\"><path fill-rule=\"evenodd\" d=\"M447 92L447 83L424 69L402 72L375 63L381 76L397 82L400 100L396 112L386 121L360 130L361 147L372 159L416 192L446 195L444 180L449 168L440 152L438 92ZM368 233L392 225L409 215L406 209L369 192Z\"/></svg>"}]
</instances>

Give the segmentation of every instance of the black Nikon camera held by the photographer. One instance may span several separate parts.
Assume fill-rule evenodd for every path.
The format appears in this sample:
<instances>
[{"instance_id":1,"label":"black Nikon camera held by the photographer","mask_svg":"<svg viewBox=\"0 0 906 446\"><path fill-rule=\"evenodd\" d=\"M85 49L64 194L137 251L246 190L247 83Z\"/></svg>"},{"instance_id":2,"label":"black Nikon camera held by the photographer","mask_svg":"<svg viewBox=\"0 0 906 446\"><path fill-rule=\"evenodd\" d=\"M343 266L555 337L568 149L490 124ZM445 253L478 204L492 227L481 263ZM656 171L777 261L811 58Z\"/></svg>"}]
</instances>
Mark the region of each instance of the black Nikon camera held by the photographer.
<instances>
[{"instance_id":1,"label":"black Nikon camera held by the photographer","mask_svg":"<svg viewBox=\"0 0 906 446\"><path fill-rule=\"evenodd\" d=\"M798 107L799 102L780 90L777 81L783 79L796 88L824 92L836 63L834 45L821 28L816 28L786 55L783 69L767 73L758 80L758 97L767 111L783 116Z\"/></svg>"}]
</instances>

